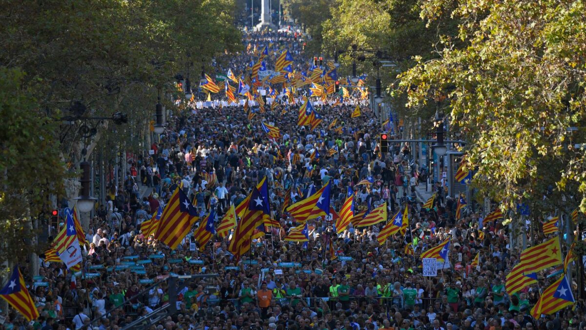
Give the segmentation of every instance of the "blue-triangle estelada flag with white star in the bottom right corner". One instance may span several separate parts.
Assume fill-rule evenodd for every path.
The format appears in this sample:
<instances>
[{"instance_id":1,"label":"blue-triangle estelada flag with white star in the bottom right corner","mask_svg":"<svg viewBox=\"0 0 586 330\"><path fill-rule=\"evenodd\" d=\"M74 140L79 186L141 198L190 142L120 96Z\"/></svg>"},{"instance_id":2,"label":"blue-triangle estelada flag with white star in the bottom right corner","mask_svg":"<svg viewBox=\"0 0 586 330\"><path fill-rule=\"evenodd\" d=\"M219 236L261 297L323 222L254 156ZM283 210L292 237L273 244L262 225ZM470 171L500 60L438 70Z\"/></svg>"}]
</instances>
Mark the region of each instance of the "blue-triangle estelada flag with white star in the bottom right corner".
<instances>
[{"instance_id":1,"label":"blue-triangle estelada flag with white star in the bottom right corner","mask_svg":"<svg viewBox=\"0 0 586 330\"><path fill-rule=\"evenodd\" d=\"M539 319L541 315L550 315L575 303L572 287L564 274L543 291L539 300L531 309L531 316Z\"/></svg>"}]
</instances>

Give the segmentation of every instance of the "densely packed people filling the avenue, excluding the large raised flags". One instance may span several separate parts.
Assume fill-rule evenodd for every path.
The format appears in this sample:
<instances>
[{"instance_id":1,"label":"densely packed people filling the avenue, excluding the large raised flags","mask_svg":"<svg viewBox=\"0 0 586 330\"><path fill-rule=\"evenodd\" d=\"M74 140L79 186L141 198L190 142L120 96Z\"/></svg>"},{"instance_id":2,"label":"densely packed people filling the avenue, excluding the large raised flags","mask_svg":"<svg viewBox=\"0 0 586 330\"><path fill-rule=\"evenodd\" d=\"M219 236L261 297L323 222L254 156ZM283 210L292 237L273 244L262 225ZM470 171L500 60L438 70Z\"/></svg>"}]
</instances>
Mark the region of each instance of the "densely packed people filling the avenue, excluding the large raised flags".
<instances>
[{"instance_id":1,"label":"densely packed people filling the avenue, excluding the large raised flags","mask_svg":"<svg viewBox=\"0 0 586 330\"><path fill-rule=\"evenodd\" d=\"M287 47L296 68L305 69L301 36L250 32L244 42L258 49L268 43ZM249 53L234 57L228 67L236 74L244 71ZM225 73L228 67L218 69ZM535 285L507 294L505 276L519 254L509 247L509 228L502 219L482 221L481 213L456 219L454 198L445 196L441 185L434 189L442 198L424 208L415 189L425 179L413 151L406 143L391 143L388 153L380 152L377 136L388 128L359 95L341 105L319 106L323 122L315 130L297 126L299 103L278 100L273 110L267 106L251 120L241 106L173 116L152 152L132 164L125 182L113 188L91 219L81 274L43 261L42 280L33 282L25 274L41 316L29 324L10 312L0 329L121 329L170 301L176 301L178 312L145 329L586 328L581 303L536 321L529 314L539 298ZM351 118L357 104L362 115ZM268 140L261 121L280 128L277 143ZM396 132L393 139L402 137ZM280 228L267 228L239 260L229 252L230 237L216 235L200 247L191 231L170 250L141 231L178 187L197 208L196 227L211 210L217 225L265 177L271 217ZM369 177L372 184L357 185ZM356 213L387 203L390 218L407 207L407 234L380 245L376 237L386 221L364 228L350 224L336 234L335 219L318 217L308 220L307 244L284 241L298 225L284 211L286 197L294 203L327 182L336 212L348 187L357 188ZM139 186L148 187L142 198ZM449 267L437 277L424 277L421 252L448 237ZM405 249L411 243L413 254ZM468 267L478 251L479 267ZM189 274L210 277L179 279L176 298L169 297L164 281L135 297L169 275ZM540 279L541 288L548 281ZM114 307L120 308L108 312Z\"/></svg>"}]
</instances>

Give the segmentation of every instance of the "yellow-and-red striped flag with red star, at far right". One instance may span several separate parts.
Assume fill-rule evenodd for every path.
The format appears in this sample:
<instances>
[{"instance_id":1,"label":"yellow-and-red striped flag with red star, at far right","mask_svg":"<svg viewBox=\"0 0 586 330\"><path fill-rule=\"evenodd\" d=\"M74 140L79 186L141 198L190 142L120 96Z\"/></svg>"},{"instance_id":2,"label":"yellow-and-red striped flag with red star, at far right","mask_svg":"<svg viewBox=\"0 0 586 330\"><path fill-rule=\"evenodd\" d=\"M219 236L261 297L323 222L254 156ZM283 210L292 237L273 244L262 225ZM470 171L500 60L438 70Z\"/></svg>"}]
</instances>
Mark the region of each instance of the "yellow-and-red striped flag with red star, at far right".
<instances>
[{"instance_id":1,"label":"yellow-and-red striped flag with red star, at far right","mask_svg":"<svg viewBox=\"0 0 586 330\"><path fill-rule=\"evenodd\" d=\"M560 240L556 236L544 243L526 248L521 252L521 262L526 267L524 268L526 274L560 265L562 262Z\"/></svg>"}]
</instances>

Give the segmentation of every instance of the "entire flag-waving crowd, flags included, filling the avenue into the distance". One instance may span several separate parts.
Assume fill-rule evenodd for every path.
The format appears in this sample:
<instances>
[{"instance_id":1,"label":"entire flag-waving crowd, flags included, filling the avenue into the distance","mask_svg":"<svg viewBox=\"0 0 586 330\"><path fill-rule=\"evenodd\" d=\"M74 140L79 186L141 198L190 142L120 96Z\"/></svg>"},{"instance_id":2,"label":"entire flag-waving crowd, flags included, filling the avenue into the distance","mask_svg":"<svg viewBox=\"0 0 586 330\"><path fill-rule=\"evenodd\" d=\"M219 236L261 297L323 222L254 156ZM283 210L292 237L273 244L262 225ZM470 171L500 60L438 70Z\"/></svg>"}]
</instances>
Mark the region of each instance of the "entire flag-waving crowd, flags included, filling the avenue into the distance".
<instances>
[{"instance_id":1,"label":"entire flag-waving crowd, flags included, filling the avenue into the distance","mask_svg":"<svg viewBox=\"0 0 586 330\"><path fill-rule=\"evenodd\" d=\"M171 303L142 328L586 328L559 221L522 251L500 210L474 213L441 183L418 199L428 178L411 146L378 140L407 138L401 127L370 110L365 77L314 63L304 38L244 32L246 50L216 65L226 80L178 100L89 228L73 209L39 277L15 268L0 329L122 329Z\"/></svg>"}]
</instances>

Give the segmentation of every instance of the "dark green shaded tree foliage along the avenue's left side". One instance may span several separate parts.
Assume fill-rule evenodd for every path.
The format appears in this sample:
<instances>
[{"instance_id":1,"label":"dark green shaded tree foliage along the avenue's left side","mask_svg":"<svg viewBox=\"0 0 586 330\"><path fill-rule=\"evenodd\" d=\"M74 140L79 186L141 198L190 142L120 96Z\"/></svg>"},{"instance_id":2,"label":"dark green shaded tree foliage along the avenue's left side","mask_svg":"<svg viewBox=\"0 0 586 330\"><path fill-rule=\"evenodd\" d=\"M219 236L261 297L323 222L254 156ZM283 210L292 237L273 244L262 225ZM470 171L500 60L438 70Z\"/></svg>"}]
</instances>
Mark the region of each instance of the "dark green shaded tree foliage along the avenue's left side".
<instances>
[{"instance_id":1,"label":"dark green shaded tree foliage along the avenue's left side","mask_svg":"<svg viewBox=\"0 0 586 330\"><path fill-rule=\"evenodd\" d=\"M164 96L176 93L175 76L185 76L188 63L197 85L203 63L241 48L233 10L234 0L0 2L0 104L6 126L0 132L5 171L0 204L2 218L12 226L6 230L20 235L23 226L15 219L26 222L25 215L35 217L48 207L49 196L63 196L69 173L60 159L76 167L81 147L98 139L103 146L138 151L132 147L138 147L154 115L158 90L173 109ZM128 124L99 126L96 136L82 139L83 121L59 120L69 115L73 101L87 106L86 116L123 112ZM13 251L27 248L22 240L7 244L0 251L10 252L11 260L19 255Z\"/></svg>"}]
</instances>

